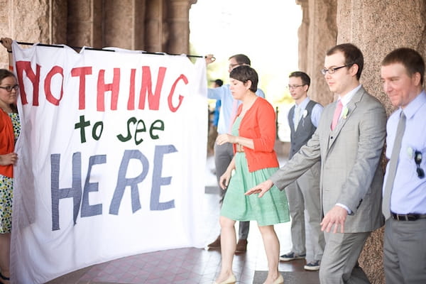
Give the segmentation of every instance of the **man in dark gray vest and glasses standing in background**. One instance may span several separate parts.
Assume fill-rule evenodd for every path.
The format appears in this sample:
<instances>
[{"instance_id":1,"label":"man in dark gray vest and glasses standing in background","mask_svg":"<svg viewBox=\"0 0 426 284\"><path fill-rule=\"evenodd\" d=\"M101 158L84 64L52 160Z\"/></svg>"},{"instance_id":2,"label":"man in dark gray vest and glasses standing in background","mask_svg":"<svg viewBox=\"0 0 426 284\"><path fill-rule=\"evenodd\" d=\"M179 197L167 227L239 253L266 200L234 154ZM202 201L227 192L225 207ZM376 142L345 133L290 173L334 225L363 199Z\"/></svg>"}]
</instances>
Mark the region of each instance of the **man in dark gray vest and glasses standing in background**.
<instances>
[{"instance_id":1,"label":"man in dark gray vest and glasses standing in background","mask_svg":"<svg viewBox=\"0 0 426 284\"><path fill-rule=\"evenodd\" d=\"M317 129L322 113L322 106L307 97L310 77L305 72L292 72L289 75L288 89L295 105L288 113L288 124L291 130L291 146L289 159L307 143ZM307 222L310 225L310 239L313 247L313 259L307 261L305 269L320 269L324 251L324 234L321 231L320 208L320 162L307 170L300 178L288 185L285 190L288 197L291 215L291 237L293 249L280 256L280 261L293 261L306 257L305 247L305 209Z\"/></svg>"}]
</instances>

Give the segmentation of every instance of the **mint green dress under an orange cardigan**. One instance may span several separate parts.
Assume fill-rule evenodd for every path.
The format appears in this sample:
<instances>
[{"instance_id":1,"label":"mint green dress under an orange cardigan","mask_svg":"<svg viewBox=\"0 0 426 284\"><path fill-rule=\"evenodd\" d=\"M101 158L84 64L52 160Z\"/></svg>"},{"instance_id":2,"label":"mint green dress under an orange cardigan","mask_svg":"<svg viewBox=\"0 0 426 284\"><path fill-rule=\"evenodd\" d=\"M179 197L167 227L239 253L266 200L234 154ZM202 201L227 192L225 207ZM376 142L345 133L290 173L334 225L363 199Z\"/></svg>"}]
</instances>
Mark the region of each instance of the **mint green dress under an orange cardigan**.
<instances>
[{"instance_id":1,"label":"mint green dress under an orange cardigan","mask_svg":"<svg viewBox=\"0 0 426 284\"><path fill-rule=\"evenodd\" d=\"M232 126L232 135L239 135L241 118L237 117ZM290 221L287 196L275 185L263 197L244 195L275 173L278 168L264 168L249 172L246 153L235 153L235 171L226 190L220 214L236 221L256 220L259 226L268 226Z\"/></svg>"}]
</instances>

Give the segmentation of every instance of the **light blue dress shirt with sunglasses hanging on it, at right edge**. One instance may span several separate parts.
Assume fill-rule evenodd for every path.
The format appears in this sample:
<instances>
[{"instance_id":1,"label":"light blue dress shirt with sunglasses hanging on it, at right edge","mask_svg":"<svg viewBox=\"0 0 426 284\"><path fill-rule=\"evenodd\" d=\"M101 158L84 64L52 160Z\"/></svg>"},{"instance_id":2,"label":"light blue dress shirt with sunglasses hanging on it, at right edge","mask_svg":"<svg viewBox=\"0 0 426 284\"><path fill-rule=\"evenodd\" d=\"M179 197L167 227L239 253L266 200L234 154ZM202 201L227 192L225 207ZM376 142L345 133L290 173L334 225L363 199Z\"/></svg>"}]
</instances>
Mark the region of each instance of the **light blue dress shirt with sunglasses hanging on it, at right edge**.
<instances>
[{"instance_id":1,"label":"light blue dress shirt with sunglasses hanging on it, at right edge","mask_svg":"<svg viewBox=\"0 0 426 284\"><path fill-rule=\"evenodd\" d=\"M395 141L400 112L406 116L405 131L396 168L391 195L391 211L397 214L426 214L426 178L417 176L414 152L422 153L420 168L426 172L426 93L423 90L404 109L398 109L388 119L386 131L386 158L390 159ZM389 163L383 182L388 180Z\"/></svg>"}]
</instances>

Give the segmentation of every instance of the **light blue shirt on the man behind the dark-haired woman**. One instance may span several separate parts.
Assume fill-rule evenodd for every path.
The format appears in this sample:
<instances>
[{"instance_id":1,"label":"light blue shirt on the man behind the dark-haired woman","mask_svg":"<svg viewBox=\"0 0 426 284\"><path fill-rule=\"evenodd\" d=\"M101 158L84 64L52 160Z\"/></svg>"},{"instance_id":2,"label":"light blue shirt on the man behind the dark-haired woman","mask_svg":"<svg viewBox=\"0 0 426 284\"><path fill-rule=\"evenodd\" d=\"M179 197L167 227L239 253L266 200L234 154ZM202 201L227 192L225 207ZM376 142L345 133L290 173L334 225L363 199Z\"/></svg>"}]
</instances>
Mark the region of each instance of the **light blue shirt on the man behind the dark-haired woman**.
<instances>
[{"instance_id":1,"label":"light blue shirt on the man behind the dark-haired woman","mask_svg":"<svg viewBox=\"0 0 426 284\"><path fill-rule=\"evenodd\" d=\"M265 94L259 88L257 89L256 94L259 97L265 97ZM220 107L219 112L219 122L217 123L217 133L230 133L229 125L231 124L231 118L233 116L232 111L234 107L238 108L241 102L232 97L229 84L224 84L217 88L209 88L207 91L207 97L209 99L220 99L222 101L222 106Z\"/></svg>"}]
</instances>

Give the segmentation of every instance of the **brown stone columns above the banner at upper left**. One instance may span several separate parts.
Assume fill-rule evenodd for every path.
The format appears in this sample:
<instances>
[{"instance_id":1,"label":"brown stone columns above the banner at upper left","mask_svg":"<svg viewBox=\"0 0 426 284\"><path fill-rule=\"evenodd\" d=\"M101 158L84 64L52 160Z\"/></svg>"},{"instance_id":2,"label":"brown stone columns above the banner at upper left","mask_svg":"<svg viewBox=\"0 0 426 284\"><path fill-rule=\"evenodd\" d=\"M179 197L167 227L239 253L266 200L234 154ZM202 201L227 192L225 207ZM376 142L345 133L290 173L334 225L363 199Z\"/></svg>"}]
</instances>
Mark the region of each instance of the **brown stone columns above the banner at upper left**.
<instances>
[{"instance_id":1,"label":"brown stone columns above the banner at upper left","mask_svg":"<svg viewBox=\"0 0 426 284\"><path fill-rule=\"evenodd\" d=\"M26 43L189 53L197 0L0 0L0 35ZM8 66L0 52L0 67Z\"/></svg>"}]
</instances>

